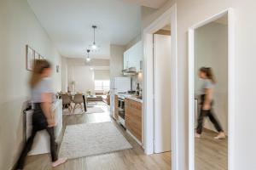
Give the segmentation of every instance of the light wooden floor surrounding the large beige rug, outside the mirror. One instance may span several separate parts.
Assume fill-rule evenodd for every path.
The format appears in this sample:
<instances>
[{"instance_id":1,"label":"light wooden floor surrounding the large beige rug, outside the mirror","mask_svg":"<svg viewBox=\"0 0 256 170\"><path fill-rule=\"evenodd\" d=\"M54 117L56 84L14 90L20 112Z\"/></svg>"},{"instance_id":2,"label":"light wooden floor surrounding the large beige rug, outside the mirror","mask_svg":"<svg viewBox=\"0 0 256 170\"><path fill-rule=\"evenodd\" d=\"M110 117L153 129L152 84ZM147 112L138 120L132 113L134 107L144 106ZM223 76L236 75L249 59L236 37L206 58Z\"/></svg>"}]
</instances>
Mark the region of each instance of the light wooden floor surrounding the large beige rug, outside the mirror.
<instances>
[{"instance_id":1,"label":"light wooden floor surrounding the large beige rug, outside the mirror","mask_svg":"<svg viewBox=\"0 0 256 170\"><path fill-rule=\"evenodd\" d=\"M109 122L113 120L109 116L108 106L102 105L104 113L83 114L75 116L63 117L63 129L68 125L80 124L80 123L93 123L93 122ZM143 153L143 148L137 144L134 139L125 133L122 127L119 127L113 122L119 131L124 134L125 138L132 145L130 150L122 150L113 152L110 154L104 154L99 156L89 156L74 160L68 160L67 163L60 167L55 167L55 170L164 170L171 169L171 153L166 152L163 154L157 154L152 156L146 156ZM58 143L61 143L63 137L61 133ZM45 170L52 169L50 166L50 157L48 154L39 156L28 156L26 159L25 170Z\"/></svg>"}]
</instances>

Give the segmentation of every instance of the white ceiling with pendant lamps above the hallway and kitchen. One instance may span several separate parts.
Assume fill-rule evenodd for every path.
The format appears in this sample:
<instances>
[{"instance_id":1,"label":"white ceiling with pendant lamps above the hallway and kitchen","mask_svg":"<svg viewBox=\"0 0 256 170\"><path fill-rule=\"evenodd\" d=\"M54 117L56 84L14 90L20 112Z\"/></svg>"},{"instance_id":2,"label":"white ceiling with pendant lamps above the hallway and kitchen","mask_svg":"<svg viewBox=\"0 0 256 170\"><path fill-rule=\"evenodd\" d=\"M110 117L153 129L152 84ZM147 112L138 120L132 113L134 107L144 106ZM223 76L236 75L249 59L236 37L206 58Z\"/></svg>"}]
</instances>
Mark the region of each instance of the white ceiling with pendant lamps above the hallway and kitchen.
<instances>
[{"instance_id":1,"label":"white ceiling with pendant lamps above the hallway and kitchen","mask_svg":"<svg viewBox=\"0 0 256 170\"><path fill-rule=\"evenodd\" d=\"M92 25L100 51L92 58L108 59L110 44L125 45L141 31L141 8L155 8L164 0L27 0L62 56L82 58L93 41ZM126 1L126 2L125 2ZM155 2L154 2L155 1ZM144 5L147 5L146 3Z\"/></svg>"}]
</instances>

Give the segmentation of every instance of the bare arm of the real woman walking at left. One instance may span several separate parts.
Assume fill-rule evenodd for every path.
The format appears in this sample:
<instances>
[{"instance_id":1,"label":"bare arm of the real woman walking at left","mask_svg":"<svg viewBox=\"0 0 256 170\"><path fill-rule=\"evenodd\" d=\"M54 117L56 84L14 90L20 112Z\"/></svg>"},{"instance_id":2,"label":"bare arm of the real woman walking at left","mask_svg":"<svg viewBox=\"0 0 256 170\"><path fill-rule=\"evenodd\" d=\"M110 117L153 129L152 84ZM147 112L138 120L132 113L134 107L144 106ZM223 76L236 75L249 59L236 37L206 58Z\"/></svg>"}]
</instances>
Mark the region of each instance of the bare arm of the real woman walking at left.
<instances>
[{"instance_id":1,"label":"bare arm of the real woman walking at left","mask_svg":"<svg viewBox=\"0 0 256 170\"><path fill-rule=\"evenodd\" d=\"M55 126L55 116L51 111L51 103L52 103L52 94L50 93L44 93L42 94L42 103L41 108L44 112L44 115L46 116L48 126L54 127Z\"/></svg>"}]
</instances>

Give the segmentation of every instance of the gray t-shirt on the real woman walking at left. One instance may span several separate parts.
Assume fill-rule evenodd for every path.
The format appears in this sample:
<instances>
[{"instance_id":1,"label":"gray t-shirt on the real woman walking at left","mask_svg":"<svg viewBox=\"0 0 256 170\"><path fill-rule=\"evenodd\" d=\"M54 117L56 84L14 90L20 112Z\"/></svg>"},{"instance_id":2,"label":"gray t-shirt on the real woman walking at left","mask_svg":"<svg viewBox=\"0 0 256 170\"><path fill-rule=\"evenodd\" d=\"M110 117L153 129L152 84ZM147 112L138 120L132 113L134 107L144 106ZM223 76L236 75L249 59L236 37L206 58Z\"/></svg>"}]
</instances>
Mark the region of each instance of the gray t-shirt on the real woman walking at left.
<instances>
[{"instance_id":1,"label":"gray t-shirt on the real woman walking at left","mask_svg":"<svg viewBox=\"0 0 256 170\"><path fill-rule=\"evenodd\" d=\"M32 103L41 103L42 94L53 93L52 83L49 77L43 78L35 88L32 88Z\"/></svg>"}]
</instances>

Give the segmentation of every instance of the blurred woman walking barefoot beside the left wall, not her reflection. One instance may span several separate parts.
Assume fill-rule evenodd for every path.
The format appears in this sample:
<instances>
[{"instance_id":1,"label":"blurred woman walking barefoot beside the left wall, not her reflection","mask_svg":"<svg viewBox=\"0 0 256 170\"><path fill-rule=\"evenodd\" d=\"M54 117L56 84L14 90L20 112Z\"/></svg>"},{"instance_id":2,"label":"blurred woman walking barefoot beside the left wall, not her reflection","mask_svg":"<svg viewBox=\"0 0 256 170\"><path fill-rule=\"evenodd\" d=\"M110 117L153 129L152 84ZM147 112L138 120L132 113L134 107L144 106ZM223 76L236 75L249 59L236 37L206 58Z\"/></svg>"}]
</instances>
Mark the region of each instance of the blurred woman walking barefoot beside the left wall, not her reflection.
<instances>
[{"instance_id":1,"label":"blurred woman walking barefoot beside the left wall, not her reflection","mask_svg":"<svg viewBox=\"0 0 256 170\"><path fill-rule=\"evenodd\" d=\"M45 59L37 59L29 82L32 88L32 134L26 141L26 145L21 152L20 159L15 169L23 169L27 153L32 149L33 139L38 131L46 130L49 133L50 155L52 167L57 167L67 161L66 158L57 156L57 144L55 143L54 127L55 116L51 111L52 89L50 77L51 66Z\"/></svg>"}]
</instances>

